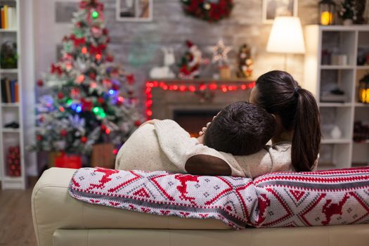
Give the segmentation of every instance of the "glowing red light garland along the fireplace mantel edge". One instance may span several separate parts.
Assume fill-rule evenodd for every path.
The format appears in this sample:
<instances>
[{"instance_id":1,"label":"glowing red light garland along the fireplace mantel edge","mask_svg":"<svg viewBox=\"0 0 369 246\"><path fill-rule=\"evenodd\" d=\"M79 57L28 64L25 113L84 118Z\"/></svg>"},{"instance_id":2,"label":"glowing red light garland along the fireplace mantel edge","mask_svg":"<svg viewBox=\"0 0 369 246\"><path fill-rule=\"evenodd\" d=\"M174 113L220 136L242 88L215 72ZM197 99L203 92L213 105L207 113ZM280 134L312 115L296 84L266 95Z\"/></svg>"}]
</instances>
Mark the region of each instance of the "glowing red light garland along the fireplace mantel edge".
<instances>
[{"instance_id":1,"label":"glowing red light garland along the fireplace mantel edge","mask_svg":"<svg viewBox=\"0 0 369 246\"><path fill-rule=\"evenodd\" d=\"M179 91L179 92L195 92L195 91L205 91L209 89L210 91L222 91L224 93L233 92L238 90L248 90L252 89L255 86L255 82L245 82L240 85L227 85L227 84L216 84L215 82L204 82L200 84L173 84L167 82L160 81L148 81L146 82L146 118L151 119L151 115L153 115L153 111L151 110L151 106L153 105L153 94L151 90L155 87L159 87L164 91Z\"/></svg>"}]
</instances>

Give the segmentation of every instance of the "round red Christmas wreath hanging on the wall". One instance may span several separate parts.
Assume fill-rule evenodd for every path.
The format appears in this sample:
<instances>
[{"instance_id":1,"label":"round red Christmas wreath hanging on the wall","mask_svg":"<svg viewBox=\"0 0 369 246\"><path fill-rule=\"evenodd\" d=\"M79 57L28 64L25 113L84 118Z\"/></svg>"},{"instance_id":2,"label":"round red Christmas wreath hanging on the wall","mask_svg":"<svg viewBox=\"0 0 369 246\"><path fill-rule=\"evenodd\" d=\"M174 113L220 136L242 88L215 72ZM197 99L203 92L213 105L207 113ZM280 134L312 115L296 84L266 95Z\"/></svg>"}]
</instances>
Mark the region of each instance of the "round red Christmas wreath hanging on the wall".
<instances>
[{"instance_id":1,"label":"round red Christmas wreath hanging on the wall","mask_svg":"<svg viewBox=\"0 0 369 246\"><path fill-rule=\"evenodd\" d=\"M186 14L209 22L227 18L233 8L233 0L181 0L181 3Z\"/></svg>"}]
</instances>

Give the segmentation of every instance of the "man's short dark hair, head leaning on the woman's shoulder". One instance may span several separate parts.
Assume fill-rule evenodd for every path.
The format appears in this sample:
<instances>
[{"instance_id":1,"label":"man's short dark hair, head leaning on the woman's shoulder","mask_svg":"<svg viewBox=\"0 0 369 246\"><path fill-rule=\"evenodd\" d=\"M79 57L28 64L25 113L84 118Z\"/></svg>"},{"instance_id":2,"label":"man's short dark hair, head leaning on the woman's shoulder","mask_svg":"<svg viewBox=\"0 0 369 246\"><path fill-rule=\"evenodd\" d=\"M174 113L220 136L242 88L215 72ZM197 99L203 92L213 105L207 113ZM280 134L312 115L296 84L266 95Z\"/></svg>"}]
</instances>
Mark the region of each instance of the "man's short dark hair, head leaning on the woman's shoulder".
<instances>
[{"instance_id":1,"label":"man's short dark hair, head leaning on the woman's shoulder","mask_svg":"<svg viewBox=\"0 0 369 246\"><path fill-rule=\"evenodd\" d=\"M226 106L207 127L204 143L209 148L233 155L259 152L271 139L276 120L263 108L236 102Z\"/></svg>"}]
</instances>

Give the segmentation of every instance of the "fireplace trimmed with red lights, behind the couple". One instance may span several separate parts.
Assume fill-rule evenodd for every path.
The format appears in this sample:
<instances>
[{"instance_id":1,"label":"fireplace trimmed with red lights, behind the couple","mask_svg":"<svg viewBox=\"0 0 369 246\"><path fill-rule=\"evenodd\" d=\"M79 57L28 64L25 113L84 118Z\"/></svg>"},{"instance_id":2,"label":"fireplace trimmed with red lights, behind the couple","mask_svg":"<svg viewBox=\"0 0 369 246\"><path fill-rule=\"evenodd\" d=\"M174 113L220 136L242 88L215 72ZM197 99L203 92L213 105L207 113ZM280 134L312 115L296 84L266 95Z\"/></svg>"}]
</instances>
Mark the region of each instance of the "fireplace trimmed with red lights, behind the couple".
<instances>
[{"instance_id":1,"label":"fireplace trimmed with red lights, behind the couple","mask_svg":"<svg viewBox=\"0 0 369 246\"><path fill-rule=\"evenodd\" d=\"M148 119L174 119L191 136L226 105L248 101L254 82L214 79L167 79L146 83Z\"/></svg>"}]
</instances>

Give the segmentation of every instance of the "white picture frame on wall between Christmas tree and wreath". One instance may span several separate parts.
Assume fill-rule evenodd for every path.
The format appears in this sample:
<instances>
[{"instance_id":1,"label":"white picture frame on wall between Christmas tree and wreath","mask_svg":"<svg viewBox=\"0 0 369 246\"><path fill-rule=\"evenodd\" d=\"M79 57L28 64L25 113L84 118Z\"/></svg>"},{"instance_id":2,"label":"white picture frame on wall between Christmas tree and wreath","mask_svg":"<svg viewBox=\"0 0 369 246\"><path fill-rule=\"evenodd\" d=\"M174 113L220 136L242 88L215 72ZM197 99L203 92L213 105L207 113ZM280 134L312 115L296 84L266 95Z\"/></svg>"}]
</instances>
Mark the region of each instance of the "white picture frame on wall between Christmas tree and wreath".
<instances>
[{"instance_id":1,"label":"white picture frame on wall between Christmas tree and wreath","mask_svg":"<svg viewBox=\"0 0 369 246\"><path fill-rule=\"evenodd\" d=\"M117 21L153 20L153 0L116 0Z\"/></svg>"}]
</instances>

